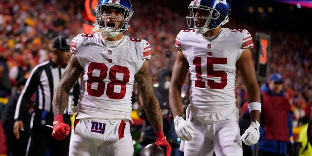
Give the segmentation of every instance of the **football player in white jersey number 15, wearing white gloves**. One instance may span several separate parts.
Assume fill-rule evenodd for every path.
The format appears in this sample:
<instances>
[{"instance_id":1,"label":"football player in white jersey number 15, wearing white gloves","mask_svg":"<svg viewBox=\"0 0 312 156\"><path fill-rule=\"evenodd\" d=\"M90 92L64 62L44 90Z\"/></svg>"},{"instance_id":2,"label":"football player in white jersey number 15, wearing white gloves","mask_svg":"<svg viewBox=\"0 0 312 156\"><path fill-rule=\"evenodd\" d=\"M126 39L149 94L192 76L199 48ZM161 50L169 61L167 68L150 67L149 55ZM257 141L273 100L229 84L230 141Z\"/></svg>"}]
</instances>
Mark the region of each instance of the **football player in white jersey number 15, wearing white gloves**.
<instances>
[{"instance_id":1,"label":"football player in white jersey number 15, wearing white gloves","mask_svg":"<svg viewBox=\"0 0 312 156\"><path fill-rule=\"evenodd\" d=\"M177 56L169 88L169 104L185 156L242 156L259 139L260 91L254 71L251 34L221 26L228 22L229 0L193 0L188 30L176 37ZM186 120L181 88L190 72L191 95ZM245 82L252 122L240 136L235 84L238 71Z\"/></svg>"}]
</instances>

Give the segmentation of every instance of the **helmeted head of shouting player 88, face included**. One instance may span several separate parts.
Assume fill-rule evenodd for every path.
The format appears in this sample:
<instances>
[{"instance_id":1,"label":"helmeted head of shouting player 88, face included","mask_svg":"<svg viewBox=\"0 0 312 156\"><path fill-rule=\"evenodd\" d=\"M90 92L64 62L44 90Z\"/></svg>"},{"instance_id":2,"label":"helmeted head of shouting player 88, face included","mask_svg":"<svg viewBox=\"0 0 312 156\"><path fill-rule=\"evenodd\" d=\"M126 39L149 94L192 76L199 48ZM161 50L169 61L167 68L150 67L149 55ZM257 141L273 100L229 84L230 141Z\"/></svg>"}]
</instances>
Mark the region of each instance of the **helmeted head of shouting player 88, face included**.
<instances>
[{"instance_id":1,"label":"helmeted head of shouting player 88, face included","mask_svg":"<svg viewBox=\"0 0 312 156\"><path fill-rule=\"evenodd\" d=\"M112 11L117 12L117 14L111 14ZM109 38L127 31L133 15L129 0L99 0L95 12L97 16L95 28L92 31L101 31Z\"/></svg>"}]
</instances>

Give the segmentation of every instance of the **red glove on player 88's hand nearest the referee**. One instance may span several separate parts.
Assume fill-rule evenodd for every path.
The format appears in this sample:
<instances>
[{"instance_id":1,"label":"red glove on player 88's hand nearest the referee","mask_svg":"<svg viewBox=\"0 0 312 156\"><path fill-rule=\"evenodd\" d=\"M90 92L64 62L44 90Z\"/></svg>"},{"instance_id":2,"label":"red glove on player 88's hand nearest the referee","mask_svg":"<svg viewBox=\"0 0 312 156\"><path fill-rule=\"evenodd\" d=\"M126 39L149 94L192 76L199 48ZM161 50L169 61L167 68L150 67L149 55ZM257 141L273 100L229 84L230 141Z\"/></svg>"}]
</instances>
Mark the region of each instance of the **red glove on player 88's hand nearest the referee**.
<instances>
[{"instance_id":1,"label":"red glove on player 88's hand nearest the referee","mask_svg":"<svg viewBox=\"0 0 312 156\"><path fill-rule=\"evenodd\" d=\"M70 131L69 125L64 123L63 115L57 114L54 116L53 121L53 132L52 137L54 137L57 140L62 140L66 136L68 136Z\"/></svg>"}]
</instances>

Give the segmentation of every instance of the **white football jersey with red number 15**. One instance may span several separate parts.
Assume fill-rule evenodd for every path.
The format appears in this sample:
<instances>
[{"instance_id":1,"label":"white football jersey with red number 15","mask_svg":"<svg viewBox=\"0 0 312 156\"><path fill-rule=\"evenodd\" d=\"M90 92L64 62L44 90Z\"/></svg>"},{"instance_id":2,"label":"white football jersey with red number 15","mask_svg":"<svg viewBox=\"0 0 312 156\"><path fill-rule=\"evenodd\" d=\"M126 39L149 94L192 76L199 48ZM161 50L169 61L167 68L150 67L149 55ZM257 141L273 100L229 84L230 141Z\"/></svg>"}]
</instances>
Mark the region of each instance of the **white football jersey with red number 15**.
<instances>
[{"instance_id":1,"label":"white football jersey with red number 15","mask_svg":"<svg viewBox=\"0 0 312 156\"><path fill-rule=\"evenodd\" d=\"M242 29L222 28L212 41L196 34L195 30L179 32L175 47L183 52L189 62L192 81L190 101L194 108L192 110L196 110L195 114L204 117L205 112L220 112L230 108L234 108L232 111L236 114L236 61L244 49L253 46L251 34ZM222 120L222 117L216 120Z\"/></svg>"}]
</instances>

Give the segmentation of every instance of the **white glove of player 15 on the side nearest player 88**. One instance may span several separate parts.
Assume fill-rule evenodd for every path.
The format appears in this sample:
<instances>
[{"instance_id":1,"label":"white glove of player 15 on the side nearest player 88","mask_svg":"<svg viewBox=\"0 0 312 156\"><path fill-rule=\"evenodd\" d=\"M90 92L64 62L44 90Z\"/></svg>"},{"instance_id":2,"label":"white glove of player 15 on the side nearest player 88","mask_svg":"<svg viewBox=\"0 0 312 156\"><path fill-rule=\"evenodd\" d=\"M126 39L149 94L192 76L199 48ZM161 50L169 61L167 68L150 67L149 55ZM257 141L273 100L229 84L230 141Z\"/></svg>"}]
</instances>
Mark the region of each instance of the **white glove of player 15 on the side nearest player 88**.
<instances>
[{"instance_id":1,"label":"white glove of player 15 on the side nearest player 88","mask_svg":"<svg viewBox=\"0 0 312 156\"><path fill-rule=\"evenodd\" d=\"M195 131L195 128L183 117L176 116L174 119L176 135L183 141L191 141L194 139L194 135L191 130Z\"/></svg>"}]
</instances>

